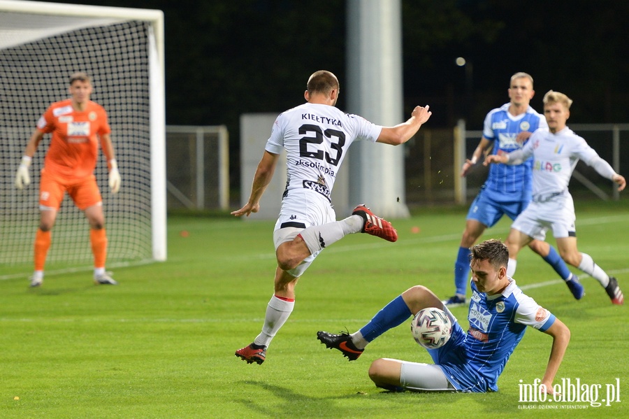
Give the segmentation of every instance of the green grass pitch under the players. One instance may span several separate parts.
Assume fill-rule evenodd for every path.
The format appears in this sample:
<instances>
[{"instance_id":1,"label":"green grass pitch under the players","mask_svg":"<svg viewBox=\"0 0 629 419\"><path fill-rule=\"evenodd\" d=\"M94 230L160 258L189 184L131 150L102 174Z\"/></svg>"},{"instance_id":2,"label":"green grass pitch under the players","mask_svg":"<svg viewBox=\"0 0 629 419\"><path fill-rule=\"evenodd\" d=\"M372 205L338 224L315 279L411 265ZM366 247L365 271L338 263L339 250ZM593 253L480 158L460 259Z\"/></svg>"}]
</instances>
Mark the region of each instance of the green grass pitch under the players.
<instances>
[{"instance_id":1,"label":"green grass pitch under the players","mask_svg":"<svg viewBox=\"0 0 629 419\"><path fill-rule=\"evenodd\" d=\"M577 202L579 249L619 278L625 292L628 211L627 199ZM464 222L465 208L425 208L394 220L397 243L354 234L326 249L301 278L295 310L262 365L238 360L234 350L259 333L273 292L273 222L171 217L168 261L115 269L116 287L92 285L89 268L57 274L51 268L43 287L29 289L30 267L0 266L0 417L628 417L628 306L612 306L587 277L581 277L586 296L575 301L526 249L516 280L572 332L556 383L578 378L591 394L602 385L600 401L618 378L620 402L520 403L520 383L542 377L551 345L550 336L533 329L507 363L500 391L487 394L375 388L367 370L379 357L431 362L414 343L410 321L356 362L317 341L321 329L354 332L412 285L449 296ZM508 229L503 220L484 238L505 239ZM467 329L466 309L453 311ZM559 405L571 409L542 409Z\"/></svg>"}]
</instances>

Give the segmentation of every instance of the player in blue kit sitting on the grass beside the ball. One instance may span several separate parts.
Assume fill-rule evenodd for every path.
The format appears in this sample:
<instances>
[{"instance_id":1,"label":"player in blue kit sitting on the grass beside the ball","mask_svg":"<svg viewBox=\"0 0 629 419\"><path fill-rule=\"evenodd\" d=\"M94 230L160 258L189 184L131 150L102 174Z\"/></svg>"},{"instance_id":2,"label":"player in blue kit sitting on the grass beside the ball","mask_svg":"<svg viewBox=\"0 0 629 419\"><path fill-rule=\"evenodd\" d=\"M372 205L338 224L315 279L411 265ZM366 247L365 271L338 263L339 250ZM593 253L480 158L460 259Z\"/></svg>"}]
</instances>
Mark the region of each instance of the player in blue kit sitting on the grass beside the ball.
<instances>
[{"instance_id":1,"label":"player in blue kit sitting on the grass beside the ball","mask_svg":"<svg viewBox=\"0 0 629 419\"><path fill-rule=\"evenodd\" d=\"M369 367L369 377L377 387L386 390L488 392L498 391L498 377L526 327L531 326L553 338L541 382L551 394L570 341L570 329L523 294L515 280L507 276L507 246L490 239L472 246L470 251L472 299L467 333L431 290L417 285L389 302L358 332L318 332L317 339L328 348L340 350L352 361L363 353L368 343L421 309L441 308L452 320L453 328L444 346L428 350L434 364L379 358Z\"/></svg>"}]
</instances>

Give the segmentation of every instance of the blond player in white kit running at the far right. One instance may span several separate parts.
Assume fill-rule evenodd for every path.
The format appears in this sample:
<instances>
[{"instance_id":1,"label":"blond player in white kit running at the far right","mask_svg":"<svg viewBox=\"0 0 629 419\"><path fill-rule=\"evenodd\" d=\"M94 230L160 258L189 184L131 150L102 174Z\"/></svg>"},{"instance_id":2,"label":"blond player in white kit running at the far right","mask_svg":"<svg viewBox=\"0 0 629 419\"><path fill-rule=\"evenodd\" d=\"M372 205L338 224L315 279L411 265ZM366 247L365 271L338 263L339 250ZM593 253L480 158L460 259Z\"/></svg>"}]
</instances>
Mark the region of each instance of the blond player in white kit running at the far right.
<instances>
[{"instance_id":1,"label":"blond player in white kit running at the far right","mask_svg":"<svg viewBox=\"0 0 629 419\"><path fill-rule=\"evenodd\" d=\"M600 176L625 189L626 180L599 157L586 141L566 126L572 100L565 94L549 91L544 96L544 115L548 129L538 129L521 149L506 155L489 155L484 164L519 164L533 156L533 201L513 222L505 241L509 248L509 268L519 250L533 239L544 240L552 229L561 258L586 272L605 288L612 304L623 304L624 297L616 278L609 276L587 253L577 250L574 202L568 183L579 159L592 166ZM509 276L514 269L509 269Z\"/></svg>"}]
</instances>

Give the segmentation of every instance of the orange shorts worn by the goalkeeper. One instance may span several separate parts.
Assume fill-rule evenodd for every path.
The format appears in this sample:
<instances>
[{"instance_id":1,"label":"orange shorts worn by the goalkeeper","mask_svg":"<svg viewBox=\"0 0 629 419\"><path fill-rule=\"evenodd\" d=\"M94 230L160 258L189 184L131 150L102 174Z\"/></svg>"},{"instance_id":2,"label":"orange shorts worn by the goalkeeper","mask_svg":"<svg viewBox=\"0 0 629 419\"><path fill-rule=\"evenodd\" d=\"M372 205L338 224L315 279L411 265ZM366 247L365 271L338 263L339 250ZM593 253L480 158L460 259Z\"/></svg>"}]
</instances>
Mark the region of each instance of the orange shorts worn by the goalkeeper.
<instances>
[{"instance_id":1,"label":"orange shorts worn by the goalkeeper","mask_svg":"<svg viewBox=\"0 0 629 419\"><path fill-rule=\"evenodd\" d=\"M68 192L74 204L81 211L85 211L86 208L99 204L103 200L94 175L82 180L67 182L63 178L46 173L45 170L41 171L39 182L40 209L52 208L58 211L64 200L65 192Z\"/></svg>"}]
</instances>

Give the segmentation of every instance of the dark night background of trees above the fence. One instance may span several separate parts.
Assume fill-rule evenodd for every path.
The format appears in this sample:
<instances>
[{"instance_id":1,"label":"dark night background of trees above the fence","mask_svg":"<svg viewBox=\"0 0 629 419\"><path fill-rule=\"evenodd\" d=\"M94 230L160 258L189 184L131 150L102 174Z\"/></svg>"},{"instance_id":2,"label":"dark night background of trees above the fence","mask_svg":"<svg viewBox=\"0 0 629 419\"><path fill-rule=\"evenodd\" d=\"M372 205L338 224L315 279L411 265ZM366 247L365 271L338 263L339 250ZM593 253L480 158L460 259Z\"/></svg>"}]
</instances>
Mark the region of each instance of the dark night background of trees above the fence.
<instances>
[{"instance_id":1,"label":"dark night background of trees above the fence","mask_svg":"<svg viewBox=\"0 0 629 419\"><path fill-rule=\"evenodd\" d=\"M163 10L166 123L226 125L236 170L241 114L300 104L319 69L346 81L345 0L62 2ZM538 111L552 89L574 100L572 123L627 122L629 1L402 3L405 113L429 104L433 127L465 117L480 129L484 115L508 101L509 77L526 71ZM456 57L472 63L471 79Z\"/></svg>"}]
</instances>

